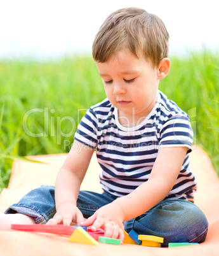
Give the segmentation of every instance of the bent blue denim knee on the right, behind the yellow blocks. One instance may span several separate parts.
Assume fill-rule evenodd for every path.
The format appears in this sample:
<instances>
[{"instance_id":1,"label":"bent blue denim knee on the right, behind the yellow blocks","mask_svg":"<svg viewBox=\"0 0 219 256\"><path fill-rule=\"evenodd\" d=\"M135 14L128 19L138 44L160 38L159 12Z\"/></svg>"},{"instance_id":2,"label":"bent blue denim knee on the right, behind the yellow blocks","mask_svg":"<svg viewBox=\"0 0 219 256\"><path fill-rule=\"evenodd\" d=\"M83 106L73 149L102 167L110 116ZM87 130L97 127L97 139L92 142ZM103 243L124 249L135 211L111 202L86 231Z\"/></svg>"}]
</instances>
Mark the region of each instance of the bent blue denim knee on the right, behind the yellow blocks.
<instances>
[{"instance_id":1,"label":"bent blue denim knee on the right, behind the yellow blocks","mask_svg":"<svg viewBox=\"0 0 219 256\"><path fill-rule=\"evenodd\" d=\"M161 236L168 243L201 243L208 232L208 220L193 203L186 200L164 200L147 213L125 223L128 232Z\"/></svg>"}]
</instances>

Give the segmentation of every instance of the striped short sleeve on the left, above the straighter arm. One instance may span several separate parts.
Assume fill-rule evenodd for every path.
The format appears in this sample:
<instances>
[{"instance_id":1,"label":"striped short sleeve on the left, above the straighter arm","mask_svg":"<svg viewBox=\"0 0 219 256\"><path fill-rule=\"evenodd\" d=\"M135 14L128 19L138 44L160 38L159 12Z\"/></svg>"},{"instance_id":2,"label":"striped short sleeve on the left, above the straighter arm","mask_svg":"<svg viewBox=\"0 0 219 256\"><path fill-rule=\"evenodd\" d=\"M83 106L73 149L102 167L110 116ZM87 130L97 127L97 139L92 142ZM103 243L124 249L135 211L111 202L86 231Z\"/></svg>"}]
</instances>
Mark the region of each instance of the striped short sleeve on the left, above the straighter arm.
<instances>
[{"instance_id":1,"label":"striped short sleeve on the left, above the straighter arm","mask_svg":"<svg viewBox=\"0 0 219 256\"><path fill-rule=\"evenodd\" d=\"M97 145L97 121L95 111L92 109L87 110L86 114L77 126L74 139L95 149Z\"/></svg>"}]
</instances>

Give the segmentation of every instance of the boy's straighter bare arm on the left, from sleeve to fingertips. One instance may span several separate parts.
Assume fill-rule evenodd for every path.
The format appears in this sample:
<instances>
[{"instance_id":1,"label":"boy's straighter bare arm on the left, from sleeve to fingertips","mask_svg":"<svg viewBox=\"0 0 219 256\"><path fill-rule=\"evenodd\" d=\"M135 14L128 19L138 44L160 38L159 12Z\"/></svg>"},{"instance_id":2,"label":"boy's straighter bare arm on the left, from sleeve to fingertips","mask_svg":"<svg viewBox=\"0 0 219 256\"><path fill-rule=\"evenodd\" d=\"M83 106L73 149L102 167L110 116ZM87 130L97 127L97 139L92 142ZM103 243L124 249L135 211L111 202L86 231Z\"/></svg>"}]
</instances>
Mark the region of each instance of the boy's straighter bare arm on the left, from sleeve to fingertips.
<instances>
[{"instance_id":1,"label":"boy's straighter bare arm on the left, from sleeve to fingertips","mask_svg":"<svg viewBox=\"0 0 219 256\"><path fill-rule=\"evenodd\" d=\"M63 163L55 183L56 214L48 224L70 225L84 220L77 208L77 197L83 178L93 155L93 148L80 143L76 139Z\"/></svg>"}]
</instances>

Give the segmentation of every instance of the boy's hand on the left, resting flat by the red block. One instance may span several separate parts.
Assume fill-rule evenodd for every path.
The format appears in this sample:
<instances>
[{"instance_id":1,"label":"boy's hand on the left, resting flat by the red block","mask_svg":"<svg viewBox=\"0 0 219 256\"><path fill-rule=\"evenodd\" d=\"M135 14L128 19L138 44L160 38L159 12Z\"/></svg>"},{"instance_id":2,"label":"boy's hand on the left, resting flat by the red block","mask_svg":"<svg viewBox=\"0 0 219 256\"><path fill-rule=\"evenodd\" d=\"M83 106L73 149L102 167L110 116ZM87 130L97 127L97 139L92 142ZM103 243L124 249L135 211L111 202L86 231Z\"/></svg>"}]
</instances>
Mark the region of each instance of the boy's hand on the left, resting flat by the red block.
<instances>
[{"instance_id":1,"label":"boy's hand on the left, resting flat by the red block","mask_svg":"<svg viewBox=\"0 0 219 256\"><path fill-rule=\"evenodd\" d=\"M77 208L76 205L72 203L63 203L56 211L56 214L51 218L47 224L48 225L70 225L72 222L79 224L84 221L83 214Z\"/></svg>"}]
</instances>

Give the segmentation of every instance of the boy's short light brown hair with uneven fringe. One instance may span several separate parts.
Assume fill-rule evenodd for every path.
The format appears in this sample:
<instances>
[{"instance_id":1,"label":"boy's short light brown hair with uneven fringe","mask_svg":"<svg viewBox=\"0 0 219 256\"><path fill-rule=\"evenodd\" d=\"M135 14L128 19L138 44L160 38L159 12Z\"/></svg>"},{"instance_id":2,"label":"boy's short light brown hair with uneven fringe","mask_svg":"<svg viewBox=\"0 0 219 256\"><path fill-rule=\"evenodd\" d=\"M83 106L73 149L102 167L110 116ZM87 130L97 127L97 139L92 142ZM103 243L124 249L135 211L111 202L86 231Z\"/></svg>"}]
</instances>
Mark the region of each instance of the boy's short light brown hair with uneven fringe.
<instances>
[{"instance_id":1,"label":"boy's short light brown hair with uneven fringe","mask_svg":"<svg viewBox=\"0 0 219 256\"><path fill-rule=\"evenodd\" d=\"M141 8L114 11L103 22L93 42L93 59L107 62L125 47L157 66L168 56L169 34L163 21Z\"/></svg>"}]
</instances>

